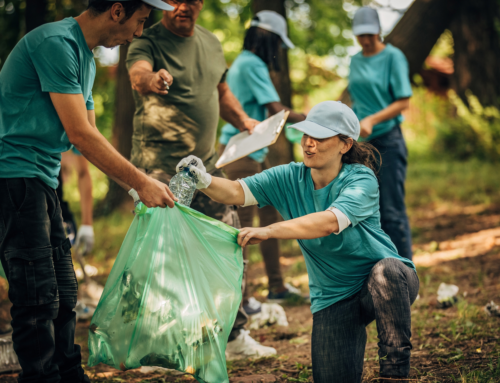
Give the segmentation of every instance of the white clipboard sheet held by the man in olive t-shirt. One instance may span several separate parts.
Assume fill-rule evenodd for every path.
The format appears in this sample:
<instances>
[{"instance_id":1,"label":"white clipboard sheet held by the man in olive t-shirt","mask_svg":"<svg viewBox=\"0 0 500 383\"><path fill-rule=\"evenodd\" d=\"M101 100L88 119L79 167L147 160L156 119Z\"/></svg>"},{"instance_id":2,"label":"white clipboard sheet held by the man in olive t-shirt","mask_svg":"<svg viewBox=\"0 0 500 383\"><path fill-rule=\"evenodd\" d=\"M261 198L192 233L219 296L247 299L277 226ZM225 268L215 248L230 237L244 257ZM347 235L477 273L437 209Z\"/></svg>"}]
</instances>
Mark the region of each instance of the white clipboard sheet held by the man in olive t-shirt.
<instances>
[{"instance_id":1,"label":"white clipboard sheet held by the man in olive t-shirt","mask_svg":"<svg viewBox=\"0 0 500 383\"><path fill-rule=\"evenodd\" d=\"M288 111L282 110L257 125L252 134L243 132L231 137L226 145L224 153L222 153L215 164L217 169L274 144L285 126L289 113Z\"/></svg>"}]
</instances>

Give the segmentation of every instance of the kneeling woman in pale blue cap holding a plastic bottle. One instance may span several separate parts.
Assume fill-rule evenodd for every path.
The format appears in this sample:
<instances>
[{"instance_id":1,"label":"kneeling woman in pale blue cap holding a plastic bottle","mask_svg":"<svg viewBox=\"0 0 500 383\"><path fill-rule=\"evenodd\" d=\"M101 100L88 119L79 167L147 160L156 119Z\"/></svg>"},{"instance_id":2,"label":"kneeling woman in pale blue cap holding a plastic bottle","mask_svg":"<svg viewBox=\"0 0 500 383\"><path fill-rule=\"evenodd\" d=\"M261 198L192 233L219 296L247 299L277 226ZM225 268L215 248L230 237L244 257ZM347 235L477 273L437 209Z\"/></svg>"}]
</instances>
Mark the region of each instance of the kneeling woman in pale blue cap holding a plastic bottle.
<instances>
[{"instance_id":1,"label":"kneeling woman in pale blue cap holding a plastic bottle","mask_svg":"<svg viewBox=\"0 0 500 383\"><path fill-rule=\"evenodd\" d=\"M177 171L190 166L197 188L217 202L271 205L285 219L243 228L238 242L298 240L309 273L316 383L361 382L365 327L373 320L381 376L405 378L412 347L410 306L419 281L413 263L397 254L380 227L373 148L356 141L359 121L340 102L316 105L292 127L304 133L303 163L230 181L210 176L201 160L190 156Z\"/></svg>"}]
</instances>

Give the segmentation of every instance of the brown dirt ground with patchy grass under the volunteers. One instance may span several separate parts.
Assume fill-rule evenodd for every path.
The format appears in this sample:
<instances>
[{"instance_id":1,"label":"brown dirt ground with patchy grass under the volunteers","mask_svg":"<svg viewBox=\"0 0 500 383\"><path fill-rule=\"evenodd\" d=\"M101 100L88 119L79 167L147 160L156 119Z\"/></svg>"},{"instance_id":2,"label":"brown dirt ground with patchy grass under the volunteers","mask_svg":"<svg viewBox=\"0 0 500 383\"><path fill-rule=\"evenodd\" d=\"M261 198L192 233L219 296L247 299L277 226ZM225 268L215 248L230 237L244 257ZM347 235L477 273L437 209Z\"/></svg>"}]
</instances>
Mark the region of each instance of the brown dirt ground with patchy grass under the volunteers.
<instances>
[{"instance_id":1,"label":"brown dirt ground with patchy grass under the volunteers","mask_svg":"<svg viewBox=\"0 0 500 383\"><path fill-rule=\"evenodd\" d=\"M412 307L412 368L415 382L500 382L500 318L483 310L489 301L500 304L500 206L456 206L446 211L426 209L412 217L414 261L420 278L420 299ZM302 256L282 258L286 280L306 291ZM263 300L262 262L251 265L249 280L254 296ZM2 280L3 281L3 280ZM441 282L459 286L459 300L451 308L436 307ZM0 325L9 320L6 284L0 282ZM231 382L312 382L312 315L308 305L285 307L289 326L268 327L251 335L275 347L273 358L227 364ZM76 339L88 358L89 322L78 323ZM363 382L378 376L377 334L367 328ZM184 382L189 375L142 374L117 371L105 365L85 370L93 382ZM14 382L16 374L0 375Z\"/></svg>"}]
</instances>

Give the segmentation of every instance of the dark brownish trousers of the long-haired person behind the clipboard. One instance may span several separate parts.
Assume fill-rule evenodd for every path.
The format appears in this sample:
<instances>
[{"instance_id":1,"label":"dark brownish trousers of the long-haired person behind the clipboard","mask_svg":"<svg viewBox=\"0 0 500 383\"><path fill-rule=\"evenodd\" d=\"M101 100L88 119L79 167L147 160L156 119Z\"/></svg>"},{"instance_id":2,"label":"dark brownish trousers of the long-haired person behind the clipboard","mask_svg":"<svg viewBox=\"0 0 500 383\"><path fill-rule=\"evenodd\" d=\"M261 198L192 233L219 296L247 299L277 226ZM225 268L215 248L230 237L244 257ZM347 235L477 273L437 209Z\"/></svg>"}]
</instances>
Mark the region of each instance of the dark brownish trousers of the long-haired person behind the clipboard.
<instances>
[{"instance_id":1,"label":"dark brownish trousers of the long-haired person behind the clipboard","mask_svg":"<svg viewBox=\"0 0 500 383\"><path fill-rule=\"evenodd\" d=\"M221 149L223 151L225 146L221 146ZM226 165L224 167L224 172L230 180L234 181L239 178L253 176L265 169L267 169L265 163L260 164L250 157L244 157L238 161ZM240 217L241 227L252 227L253 218L255 215L259 216L260 226L269 226L273 223L276 223L279 218L278 212L273 206L266 206L262 209L259 209L257 206L240 207L238 208L237 213ZM267 241L261 242L259 246L262 257L264 258L266 273L269 280L269 290L282 290L284 286L283 277L281 276L280 248L278 240L268 239ZM243 255L245 256L245 259L248 259L247 253L248 247L245 247L243 249Z\"/></svg>"}]
</instances>

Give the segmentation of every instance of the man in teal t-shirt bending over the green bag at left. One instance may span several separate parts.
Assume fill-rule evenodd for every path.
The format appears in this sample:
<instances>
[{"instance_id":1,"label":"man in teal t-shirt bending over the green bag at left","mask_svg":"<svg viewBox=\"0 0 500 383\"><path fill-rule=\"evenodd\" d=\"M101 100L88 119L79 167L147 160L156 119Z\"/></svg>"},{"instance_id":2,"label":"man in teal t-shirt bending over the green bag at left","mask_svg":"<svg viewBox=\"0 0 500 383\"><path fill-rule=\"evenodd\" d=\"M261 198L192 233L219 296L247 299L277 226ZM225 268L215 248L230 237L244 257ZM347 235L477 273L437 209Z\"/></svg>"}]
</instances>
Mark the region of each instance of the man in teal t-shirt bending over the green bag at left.
<instances>
[{"instance_id":1,"label":"man in teal t-shirt bending over the green bag at left","mask_svg":"<svg viewBox=\"0 0 500 383\"><path fill-rule=\"evenodd\" d=\"M95 127L92 49L140 36L160 0L90 1L77 18L24 36L0 72L0 260L9 282L19 382L89 382L74 344L77 288L56 196L61 153L74 145L150 207L173 206Z\"/></svg>"}]
</instances>

